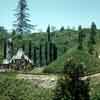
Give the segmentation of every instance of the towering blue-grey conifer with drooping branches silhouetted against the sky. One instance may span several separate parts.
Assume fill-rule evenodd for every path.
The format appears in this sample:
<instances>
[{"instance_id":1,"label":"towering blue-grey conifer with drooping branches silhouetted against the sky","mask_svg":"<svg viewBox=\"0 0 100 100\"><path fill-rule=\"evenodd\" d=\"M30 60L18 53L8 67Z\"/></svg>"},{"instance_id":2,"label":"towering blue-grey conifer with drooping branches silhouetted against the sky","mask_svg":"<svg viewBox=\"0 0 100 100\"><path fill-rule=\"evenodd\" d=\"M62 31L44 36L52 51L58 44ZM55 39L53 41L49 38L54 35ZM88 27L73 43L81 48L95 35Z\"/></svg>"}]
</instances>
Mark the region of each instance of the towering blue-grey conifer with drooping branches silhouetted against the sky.
<instances>
[{"instance_id":1,"label":"towering blue-grey conifer with drooping branches silhouetted against the sky","mask_svg":"<svg viewBox=\"0 0 100 100\"><path fill-rule=\"evenodd\" d=\"M17 13L15 14L17 20L14 23L17 33L23 35L29 33L33 28L33 25L29 24L29 14L27 13L28 7L26 0L19 0L17 6Z\"/></svg>"}]
</instances>

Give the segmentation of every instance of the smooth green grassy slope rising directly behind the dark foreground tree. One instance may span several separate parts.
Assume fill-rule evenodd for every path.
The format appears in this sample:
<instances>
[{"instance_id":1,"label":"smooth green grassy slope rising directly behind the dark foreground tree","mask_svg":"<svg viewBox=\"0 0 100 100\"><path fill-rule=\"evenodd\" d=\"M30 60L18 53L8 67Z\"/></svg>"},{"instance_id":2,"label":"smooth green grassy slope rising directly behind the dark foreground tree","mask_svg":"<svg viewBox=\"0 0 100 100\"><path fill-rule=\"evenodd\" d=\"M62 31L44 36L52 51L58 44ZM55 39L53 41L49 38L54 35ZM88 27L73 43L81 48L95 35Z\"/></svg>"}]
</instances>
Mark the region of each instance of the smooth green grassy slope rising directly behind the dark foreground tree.
<instances>
[{"instance_id":1,"label":"smooth green grassy slope rising directly behind the dark foreground tree","mask_svg":"<svg viewBox=\"0 0 100 100\"><path fill-rule=\"evenodd\" d=\"M63 56L44 69L47 73L60 73L67 59L73 57L76 62L83 63L86 66L87 74L100 72L100 59L95 55L90 55L86 50L80 51L77 48L71 48Z\"/></svg>"}]
</instances>

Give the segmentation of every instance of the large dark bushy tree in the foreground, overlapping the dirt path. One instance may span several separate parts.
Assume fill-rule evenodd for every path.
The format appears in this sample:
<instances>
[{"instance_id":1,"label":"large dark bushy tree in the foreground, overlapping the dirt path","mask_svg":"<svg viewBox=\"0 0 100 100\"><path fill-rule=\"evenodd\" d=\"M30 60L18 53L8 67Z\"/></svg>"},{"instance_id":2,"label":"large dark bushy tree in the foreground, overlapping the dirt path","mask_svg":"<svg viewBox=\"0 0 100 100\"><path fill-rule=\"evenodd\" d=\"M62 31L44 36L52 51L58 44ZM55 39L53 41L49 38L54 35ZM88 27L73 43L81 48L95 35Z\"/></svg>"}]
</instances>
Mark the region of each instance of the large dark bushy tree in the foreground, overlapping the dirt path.
<instances>
[{"instance_id":1,"label":"large dark bushy tree in the foreground, overlapping the dirt path","mask_svg":"<svg viewBox=\"0 0 100 100\"><path fill-rule=\"evenodd\" d=\"M53 100L90 100L89 80L82 79L84 70L83 64L77 63L73 58L68 59Z\"/></svg>"}]
</instances>

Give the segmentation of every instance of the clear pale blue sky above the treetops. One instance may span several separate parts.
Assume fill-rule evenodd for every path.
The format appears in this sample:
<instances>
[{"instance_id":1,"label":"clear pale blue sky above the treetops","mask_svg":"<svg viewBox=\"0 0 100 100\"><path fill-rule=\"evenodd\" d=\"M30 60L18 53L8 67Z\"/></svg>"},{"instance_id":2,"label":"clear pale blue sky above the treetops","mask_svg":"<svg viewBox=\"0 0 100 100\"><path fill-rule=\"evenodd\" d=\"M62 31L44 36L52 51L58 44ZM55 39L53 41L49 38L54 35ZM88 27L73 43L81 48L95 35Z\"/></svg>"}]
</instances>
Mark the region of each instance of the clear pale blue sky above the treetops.
<instances>
[{"instance_id":1,"label":"clear pale blue sky above the treetops","mask_svg":"<svg viewBox=\"0 0 100 100\"><path fill-rule=\"evenodd\" d=\"M19 0L0 0L0 26L13 29ZM67 28L90 27L95 22L100 28L100 0L27 0L31 24L37 25L34 31L45 31L48 24Z\"/></svg>"}]
</instances>

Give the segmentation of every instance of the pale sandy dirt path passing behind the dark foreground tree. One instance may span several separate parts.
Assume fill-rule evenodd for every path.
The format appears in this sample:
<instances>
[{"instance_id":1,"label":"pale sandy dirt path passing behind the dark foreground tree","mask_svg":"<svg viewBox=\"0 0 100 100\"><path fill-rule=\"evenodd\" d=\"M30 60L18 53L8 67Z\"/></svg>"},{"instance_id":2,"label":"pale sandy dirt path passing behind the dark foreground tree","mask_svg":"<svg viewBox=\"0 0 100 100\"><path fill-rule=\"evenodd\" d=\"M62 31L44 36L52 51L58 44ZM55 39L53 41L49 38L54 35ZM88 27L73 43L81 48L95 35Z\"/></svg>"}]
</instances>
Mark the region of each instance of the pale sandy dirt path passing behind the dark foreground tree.
<instances>
[{"instance_id":1,"label":"pale sandy dirt path passing behind the dark foreground tree","mask_svg":"<svg viewBox=\"0 0 100 100\"><path fill-rule=\"evenodd\" d=\"M31 75L31 74L18 74L17 79L25 79L32 81L33 85L43 87L43 88L53 88L57 82L57 75ZM97 79L100 78L100 73L85 76L82 79L87 78Z\"/></svg>"}]
</instances>

